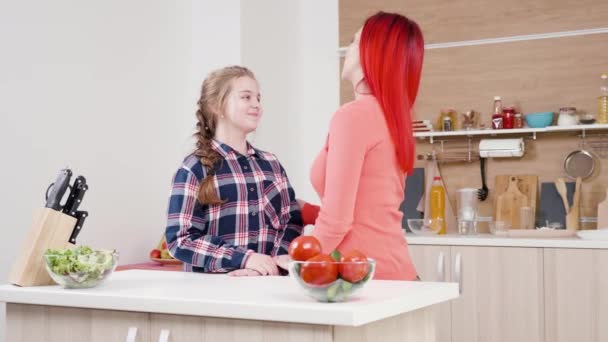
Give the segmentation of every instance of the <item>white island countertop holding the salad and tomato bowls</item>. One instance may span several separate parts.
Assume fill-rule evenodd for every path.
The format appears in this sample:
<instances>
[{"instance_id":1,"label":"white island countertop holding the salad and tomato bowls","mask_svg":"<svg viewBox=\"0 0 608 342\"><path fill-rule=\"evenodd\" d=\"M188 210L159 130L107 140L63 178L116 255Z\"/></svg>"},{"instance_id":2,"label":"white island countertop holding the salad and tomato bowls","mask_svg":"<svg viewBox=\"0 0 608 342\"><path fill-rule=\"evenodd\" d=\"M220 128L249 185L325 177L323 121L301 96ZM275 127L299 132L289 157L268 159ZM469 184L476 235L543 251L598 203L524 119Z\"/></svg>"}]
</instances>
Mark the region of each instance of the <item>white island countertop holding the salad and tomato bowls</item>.
<instances>
[{"instance_id":1,"label":"white island countertop holding the salad and tomato bowls","mask_svg":"<svg viewBox=\"0 0 608 342\"><path fill-rule=\"evenodd\" d=\"M119 271L91 289L0 286L7 303L359 326L458 297L456 283L372 280L344 303L319 303L289 277Z\"/></svg>"}]
</instances>

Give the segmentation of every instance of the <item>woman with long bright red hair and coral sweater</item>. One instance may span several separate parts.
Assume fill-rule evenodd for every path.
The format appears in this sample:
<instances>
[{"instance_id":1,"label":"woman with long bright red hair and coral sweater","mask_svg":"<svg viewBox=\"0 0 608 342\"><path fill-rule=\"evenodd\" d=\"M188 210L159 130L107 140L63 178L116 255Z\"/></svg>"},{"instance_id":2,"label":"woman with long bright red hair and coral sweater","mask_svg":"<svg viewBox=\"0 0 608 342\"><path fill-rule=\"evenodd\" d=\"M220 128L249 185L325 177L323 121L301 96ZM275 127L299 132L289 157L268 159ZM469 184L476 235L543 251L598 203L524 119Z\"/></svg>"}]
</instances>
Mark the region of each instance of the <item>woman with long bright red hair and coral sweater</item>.
<instances>
[{"instance_id":1,"label":"woman with long bright red hair and coral sweater","mask_svg":"<svg viewBox=\"0 0 608 342\"><path fill-rule=\"evenodd\" d=\"M414 164L411 113L423 55L414 21L383 12L365 21L342 70L355 100L334 114L311 169L321 198L312 235L325 253L357 249L376 259L377 279L417 278L399 205ZM303 216L314 210L304 205Z\"/></svg>"}]
</instances>

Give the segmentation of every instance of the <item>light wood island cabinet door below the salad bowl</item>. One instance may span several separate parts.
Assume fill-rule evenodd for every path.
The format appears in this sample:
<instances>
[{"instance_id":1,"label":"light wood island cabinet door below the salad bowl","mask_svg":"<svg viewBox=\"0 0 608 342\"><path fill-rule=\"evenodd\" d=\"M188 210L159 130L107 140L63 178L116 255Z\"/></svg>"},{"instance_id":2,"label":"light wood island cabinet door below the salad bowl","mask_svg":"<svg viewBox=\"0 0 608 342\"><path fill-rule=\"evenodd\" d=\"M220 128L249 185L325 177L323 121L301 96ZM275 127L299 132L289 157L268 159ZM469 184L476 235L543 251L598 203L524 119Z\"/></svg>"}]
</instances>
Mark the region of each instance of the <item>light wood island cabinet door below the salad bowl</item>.
<instances>
[{"instance_id":1,"label":"light wood island cabinet door below the salad bowl","mask_svg":"<svg viewBox=\"0 0 608 342\"><path fill-rule=\"evenodd\" d=\"M125 342L130 327L133 342L150 340L147 313L8 304L6 316L11 342Z\"/></svg>"}]
</instances>

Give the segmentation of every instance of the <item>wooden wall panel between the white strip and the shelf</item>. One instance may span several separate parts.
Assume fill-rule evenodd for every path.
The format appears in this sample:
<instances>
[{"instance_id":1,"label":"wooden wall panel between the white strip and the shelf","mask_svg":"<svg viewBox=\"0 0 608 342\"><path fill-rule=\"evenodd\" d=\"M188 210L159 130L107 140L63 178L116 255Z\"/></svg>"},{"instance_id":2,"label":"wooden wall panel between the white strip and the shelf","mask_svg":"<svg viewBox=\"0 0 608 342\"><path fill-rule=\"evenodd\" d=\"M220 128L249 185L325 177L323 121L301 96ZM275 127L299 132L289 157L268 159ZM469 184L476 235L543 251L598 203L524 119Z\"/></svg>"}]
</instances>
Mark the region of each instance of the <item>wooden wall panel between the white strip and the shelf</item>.
<instances>
[{"instance_id":1,"label":"wooden wall panel between the white strip and the shelf","mask_svg":"<svg viewBox=\"0 0 608 342\"><path fill-rule=\"evenodd\" d=\"M474 108L489 124L495 95L524 113L563 106L596 113L599 76L608 71L600 47L608 47L608 33L427 50L417 115Z\"/></svg>"}]
</instances>

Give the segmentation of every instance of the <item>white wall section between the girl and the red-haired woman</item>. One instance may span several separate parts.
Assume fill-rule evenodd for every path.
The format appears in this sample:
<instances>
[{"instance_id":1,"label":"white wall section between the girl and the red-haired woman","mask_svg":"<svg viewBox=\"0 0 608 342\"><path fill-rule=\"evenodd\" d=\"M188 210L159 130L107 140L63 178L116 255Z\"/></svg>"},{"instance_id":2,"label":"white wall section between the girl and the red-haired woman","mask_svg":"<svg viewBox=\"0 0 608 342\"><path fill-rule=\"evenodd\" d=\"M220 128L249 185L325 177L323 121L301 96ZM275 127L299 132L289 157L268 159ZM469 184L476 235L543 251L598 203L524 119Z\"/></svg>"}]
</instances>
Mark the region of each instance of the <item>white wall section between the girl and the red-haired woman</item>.
<instances>
[{"instance_id":1,"label":"white wall section between the girl and the red-haired woman","mask_svg":"<svg viewBox=\"0 0 608 342\"><path fill-rule=\"evenodd\" d=\"M241 3L241 57L260 82L258 147L275 153L298 197L317 202L309 181L339 106L337 0Z\"/></svg>"}]
</instances>

